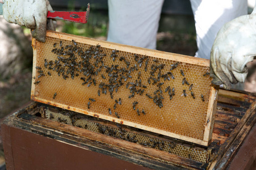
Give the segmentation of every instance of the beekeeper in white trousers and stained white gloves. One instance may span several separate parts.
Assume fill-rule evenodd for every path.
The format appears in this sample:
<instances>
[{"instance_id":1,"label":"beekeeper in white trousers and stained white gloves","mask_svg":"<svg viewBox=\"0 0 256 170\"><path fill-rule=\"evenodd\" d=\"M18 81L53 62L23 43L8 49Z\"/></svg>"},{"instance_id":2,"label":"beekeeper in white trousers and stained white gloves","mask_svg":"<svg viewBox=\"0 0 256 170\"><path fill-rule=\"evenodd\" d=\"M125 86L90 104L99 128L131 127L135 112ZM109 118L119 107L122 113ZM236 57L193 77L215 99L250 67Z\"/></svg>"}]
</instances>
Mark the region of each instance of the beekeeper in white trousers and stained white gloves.
<instances>
[{"instance_id":1,"label":"beekeeper in white trousers and stained white gloves","mask_svg":"<svg viewBox=\"0 0 256 170\"><path fill-rule=\"evenodd\" d=\"M35 29L32 36L37 40L45 41L48 25L54 29L54 22L47 24L47 11L52 10L47 0L3 0L3 3L7 22ZM107 40L156 49L162 5L163 0L108 0ZM256 54L256 11L246 15L246 0L191 0L191 7L198 45L195 57L211 56L212 82L224 83L226 88L231 87L230 83L243 83L246 63Z\"/></svg>"}]
</instances>

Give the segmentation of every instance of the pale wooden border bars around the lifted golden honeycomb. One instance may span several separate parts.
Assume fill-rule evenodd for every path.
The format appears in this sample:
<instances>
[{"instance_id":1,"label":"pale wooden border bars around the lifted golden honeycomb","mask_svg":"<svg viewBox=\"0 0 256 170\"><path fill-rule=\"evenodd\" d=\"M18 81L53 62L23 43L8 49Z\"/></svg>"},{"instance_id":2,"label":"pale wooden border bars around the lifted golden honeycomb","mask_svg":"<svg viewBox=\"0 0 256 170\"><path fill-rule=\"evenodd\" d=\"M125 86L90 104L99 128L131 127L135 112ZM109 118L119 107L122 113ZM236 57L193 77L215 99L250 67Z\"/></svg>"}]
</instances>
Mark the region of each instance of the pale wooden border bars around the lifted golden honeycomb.
<instances>
[{"instance_id":1,"label":"pale wooden border bars around the lifted golden honeycomb","mask_svg":"<svg viewBox=\"0 0 256 170\"><path fill-rule=\"evenodd\" d=\"M90 39L90 38L87 38L87 37L68 35L66 33L57 33L57 32L53 32L53 31L48 31L47 36L54 37L54 38L57 38L57 39L62 39L62 40L68 40L68 41L72 41L73 39L75 39L76 42L81 42L81 43L86 43L86 44L91 44L91 45L95 45L95 44L100 43L100 45L102 47L108 48L108 49L123 50L125 52L143 54L143 55L158 57L158 58L163 58L163 59L170 59L170 57L171 57L172 60L179 61L179 62L186 62L186 63L199 65L199 66L205 66L205 67L209 66L209 60L208 59L203 59L203 58L195 58L195 57L190 57L190 56L183 56L183 55L180 55L180 54L160 52L160 51L157 51L157 50L137 48L137 47L128 46L128 45L116 44L116 43L113 43L113 42L94 40L94 39ZM36 60L37 59L37 53L36 53L37 45L36 45L36 43L37 43L37 41L35 39L33 39L32 40L32 47L33 47L33 75L32 76L36 75L36 69L35 69L36 62L37 62L37 60ZM213 130L212 127L213 127L215 108L216 108L216 103L217 103L216 100L217 100L217 95L218 95L218 90L216 89L216 86L213 86L213 85L211 87L211 91L210 91L210 95L209 95L208 111L207 111L207 116L206 116L205 125L204 125L205 126L205 128L204 128L204 138L203 138L203 140L201 140L201 139L196 139L196 138L192 138L192 137L187 137L185 135L171 133L169 131L164 131L164 130L160 130L160 129L156 129L156 128L151 128L151 127L148 127L148 126L137 124L135 122L125 121L125 120L121 120L119 118L113 118L113 117L110 117L110 116L106 116L104 114L85 111L83 109L75 108L75 107L72 107L70 105L65 105L65 104L62 104L62 103L56 103L54 101L41 99L40 96L38 96L38 93L36 91L36 86L35 86L34 83L35 83L35 79L32 79L31 99L35 100L35 101L39 101L41 103L53 105L53 106L64 108L64 109L69 109L70 111L75 111L75 112L79 112L79 113L83 113L83 114L88 114L88 115L94 116L94 117L103 118L104 120L115 121L115 122L118 122L120 124L129 125L129 126L133 126L133 127L139 128L139 129L152 131L154 133L167 135L167 136L170 136L170 137L182 139L184 141L197 143L197 144L203 145L203 146L207 146L209 141L211 141L212 130Z\"/></svg>"}]
</instances>

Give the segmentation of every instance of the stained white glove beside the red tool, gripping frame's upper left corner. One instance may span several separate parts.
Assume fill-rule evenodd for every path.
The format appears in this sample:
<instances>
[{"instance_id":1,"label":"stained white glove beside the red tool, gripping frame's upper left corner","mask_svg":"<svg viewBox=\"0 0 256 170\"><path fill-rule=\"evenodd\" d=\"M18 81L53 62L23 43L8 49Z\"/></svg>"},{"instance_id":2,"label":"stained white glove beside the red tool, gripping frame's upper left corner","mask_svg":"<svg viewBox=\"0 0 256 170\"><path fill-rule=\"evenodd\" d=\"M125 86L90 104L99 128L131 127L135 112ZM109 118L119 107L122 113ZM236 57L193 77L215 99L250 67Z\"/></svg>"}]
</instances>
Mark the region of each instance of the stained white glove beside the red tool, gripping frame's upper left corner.
<instances>
[{"instance_id":1,"label":"stained white glove beside the red tool, gripping frame's upper left corner","mask_svg":"<svg viewBox=\"0 0 256 170\"><path fill-rule=\"evenodd\" d=\"M48 0L3 0L3 17L9 23L15 23L34 29L35 39L45 42L47 29L55 30L56 22L48 19L47 12L52 11Z\"/></svg>"}]
</instances>

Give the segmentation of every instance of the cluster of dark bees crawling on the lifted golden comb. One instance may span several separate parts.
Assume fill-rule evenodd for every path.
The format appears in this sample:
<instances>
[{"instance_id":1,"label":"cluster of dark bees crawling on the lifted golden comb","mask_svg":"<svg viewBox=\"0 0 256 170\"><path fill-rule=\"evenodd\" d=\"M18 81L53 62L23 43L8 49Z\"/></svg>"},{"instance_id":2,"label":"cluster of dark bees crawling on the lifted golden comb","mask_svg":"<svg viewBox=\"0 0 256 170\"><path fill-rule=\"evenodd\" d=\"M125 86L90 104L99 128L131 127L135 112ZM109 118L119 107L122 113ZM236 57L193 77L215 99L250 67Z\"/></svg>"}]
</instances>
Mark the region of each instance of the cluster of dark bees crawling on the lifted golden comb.
<instances>
[{"instance_id":1,"label":"cluster of dark bees crawling on the lifted golden comb","mask_svg":"<svg viewBox=\"0 0 256 170\"><path fill-rule=\"evenodd\" d=\"M57 59L55 61L47 61L47 59L44 59L44 67L47 68L48 75L51 76L52 72L55 71L58 76L62 76L63 79L74 79L75 77L78 77L82 80L82 86L90 87L92 84L96 86L98 84L99 90L98 90L98 96L104 94L107 95L107 93L110 95L111 99L113 99L114 92L118 92L118 89L120 86L125 85L125 87L129 90L130 95L128 98L134 97L137 95L146 95L149 99L152 99L152 101L157 105L157 107L162 108L162 100L165 98L163 97L163 93L167 93L169 95L169 99L173 99L175 95L175 87L167 86L165 90L163 90L162 85L165 84L164 82L166 80L174 80L175 76L173 73L171 73L172 70L178 69L180 62L175 62L172 65L170 65L170 71L167 73L162 73L161 70L163 70L165 67L168 67L166 64L160 63L158 59L153 59L154 64L149 65L149 57L148 56L142 56L139 57L137 54L134 54L134 59L137 62L134 66L131 66L131 62L123 56L119 56L119 50L112 50L112 54L110 56L106 56L106 54L102 53L102 50L100 50L100 45L91 45L91 47L87 50L84 50L77 46L77 42L75 40L72 40L72 44L62 46L62 41L57 45L57 42L53 44L52 53L57 55ZM78 61L77 56L75 53L78 54L78 56L81 56L80 61ZM103 57L111 57L112 61L115 62L117 59L119 61L123 61L126 65L126 67L119 67L119 65L104 65ZM94 61L93 61L94 59ZM150 76L148 78L147 82L142 82L140 79L141 71L138 72L139 67L144 67L144 71L149 71ZM39 75L37 76L37 79L39 79L41 76L45 76L43 73L43 70L41 67L36 66L37 72ZM131 76L132 72L138 72L137 73L137 79L135 81L132 81L130 79L133 79ZM102 72L107 73L107 77L102 74ZM182 80L182 85L187 84L188 90L191 93L191 96L193 99L195 99L195 94L192 91L192 88L194 87L193 84L190 84L188 80L185 78L185 73L183 70L180 70L180 73L182 76L184 76ZM203 76L209 75L209 73L205 73ZM108 83L103 82L96 82L95 76L100 76L102 79L108 79ZM162 82L162 79L164 82ZM39 84L40 81L37 80L34 84ZM153 84L156 85L156 91L154 91L153 94L148 94L145 92L147 88L147 84ZM57 96L57 93L55 92L53 94L53 99L55 99ZM183 96L187 97L187 90L183 90ZM204 95L200 95L202 98L202 101L204 101ZM89 102L87 103L87 108L90 109L90 105L92 102L95 102L95 99L90 98ZM121 98L119 98L119 101L115 100L114 109L116 108L116 105L121 105ZM137 114L140 116L140 113L146 114L144 109L142 108L141 111L139 108L136 109L136 105L138 104L138 101L134 101L132 104L132 107L134 110L136 110ZM108 109L108 112L112 114L111 108ZM114 112L117 118L120 118L119 114L117 112Z\"/></svg>"}]
</instances>

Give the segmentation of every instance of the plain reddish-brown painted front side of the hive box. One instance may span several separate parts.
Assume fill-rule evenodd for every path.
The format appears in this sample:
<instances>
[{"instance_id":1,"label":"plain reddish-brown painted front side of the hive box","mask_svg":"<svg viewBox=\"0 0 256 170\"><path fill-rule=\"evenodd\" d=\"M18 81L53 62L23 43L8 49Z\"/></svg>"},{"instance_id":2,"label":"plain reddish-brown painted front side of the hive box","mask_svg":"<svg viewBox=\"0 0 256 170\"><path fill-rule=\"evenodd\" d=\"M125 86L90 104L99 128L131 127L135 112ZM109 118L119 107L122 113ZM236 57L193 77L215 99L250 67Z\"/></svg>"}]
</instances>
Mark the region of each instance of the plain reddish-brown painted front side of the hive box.
<instances>
[{"instance_id":1,"label":"plain reddish-brown painted front side of the hive box","mask_svg":"<svg viewBox=\"0 0 256 170\"><path fill-rule=\"evenodd\" d=\"M4 148L12 152L6 154L7 169L149 169L30 131L3 127L3 134L10 134L3 136Z\"/></svg>"}]
</instances>

